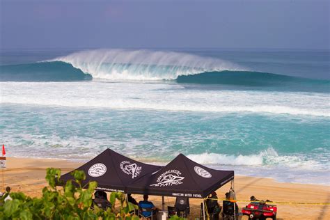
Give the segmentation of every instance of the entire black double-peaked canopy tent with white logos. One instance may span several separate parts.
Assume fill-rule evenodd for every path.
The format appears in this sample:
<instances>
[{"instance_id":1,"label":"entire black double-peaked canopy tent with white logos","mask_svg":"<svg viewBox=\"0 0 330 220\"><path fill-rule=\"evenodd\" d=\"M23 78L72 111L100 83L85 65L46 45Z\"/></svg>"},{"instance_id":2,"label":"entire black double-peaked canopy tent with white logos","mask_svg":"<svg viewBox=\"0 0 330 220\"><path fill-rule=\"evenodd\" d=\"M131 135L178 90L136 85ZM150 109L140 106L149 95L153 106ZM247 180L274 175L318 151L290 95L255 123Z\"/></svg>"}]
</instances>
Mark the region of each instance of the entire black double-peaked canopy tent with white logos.
<instances>
[{"instance_id":1,"label":"entire black double-peaked canopy tent with white logos","mask_svg":"<svg viewBox=\"0 0 330 220\"><path fill-rule=\"evenodd\" d=\"M234 171L207 168L182 154L166 166L155 166L137 162L110 149L76 170L86 173L83 185L96 181L97 189L104 191L163 196L163 205L164 196L206 198L212 191L234 180ZM61 175L64 184L72 179L70 173Z\"/></svg>"}]
</instances>

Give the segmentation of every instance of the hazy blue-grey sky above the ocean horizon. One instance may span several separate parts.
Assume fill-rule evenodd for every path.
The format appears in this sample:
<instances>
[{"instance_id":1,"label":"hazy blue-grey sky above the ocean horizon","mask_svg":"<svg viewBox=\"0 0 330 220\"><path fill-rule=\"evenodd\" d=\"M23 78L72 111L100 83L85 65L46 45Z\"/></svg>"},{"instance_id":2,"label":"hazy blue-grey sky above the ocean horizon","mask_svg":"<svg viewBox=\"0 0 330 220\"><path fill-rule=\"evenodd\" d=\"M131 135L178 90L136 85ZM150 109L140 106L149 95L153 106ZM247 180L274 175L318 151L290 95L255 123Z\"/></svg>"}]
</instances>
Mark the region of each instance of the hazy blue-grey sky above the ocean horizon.
<instances>
[{"instance_id":1,"label":"hazy blue-grey sky above the ocean horizon","mask_svg":"<svg viewBox=\"0 0 330 220\"><path fill-rule=\"evenodd\" d=\"M0 47L330 49L329 2L0 0Z\"/></svg>"}]
</instances>

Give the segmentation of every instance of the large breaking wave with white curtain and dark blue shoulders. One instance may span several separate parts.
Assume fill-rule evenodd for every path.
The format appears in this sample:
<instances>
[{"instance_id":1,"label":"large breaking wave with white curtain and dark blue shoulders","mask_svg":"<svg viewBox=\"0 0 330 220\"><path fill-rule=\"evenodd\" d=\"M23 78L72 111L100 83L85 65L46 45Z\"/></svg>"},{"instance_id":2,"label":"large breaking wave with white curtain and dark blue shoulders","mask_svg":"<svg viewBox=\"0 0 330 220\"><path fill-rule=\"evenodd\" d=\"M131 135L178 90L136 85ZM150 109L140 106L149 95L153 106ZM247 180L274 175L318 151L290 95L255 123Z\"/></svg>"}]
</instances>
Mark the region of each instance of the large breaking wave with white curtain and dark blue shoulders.
<instances>
[{"instance_id":1,"label":"large breaking wave with white curtain and dark blue shoulders","mask_svg":"<svg viewBox=\"0 0 330 220\"><path fill-rule=\"evenodd\" d=\"M49 61L1 65L0 81L176 81L184 84L329 88L329 80L256 72L223 61L179 52L97 49Z\"/></svg>"}]
</instances>

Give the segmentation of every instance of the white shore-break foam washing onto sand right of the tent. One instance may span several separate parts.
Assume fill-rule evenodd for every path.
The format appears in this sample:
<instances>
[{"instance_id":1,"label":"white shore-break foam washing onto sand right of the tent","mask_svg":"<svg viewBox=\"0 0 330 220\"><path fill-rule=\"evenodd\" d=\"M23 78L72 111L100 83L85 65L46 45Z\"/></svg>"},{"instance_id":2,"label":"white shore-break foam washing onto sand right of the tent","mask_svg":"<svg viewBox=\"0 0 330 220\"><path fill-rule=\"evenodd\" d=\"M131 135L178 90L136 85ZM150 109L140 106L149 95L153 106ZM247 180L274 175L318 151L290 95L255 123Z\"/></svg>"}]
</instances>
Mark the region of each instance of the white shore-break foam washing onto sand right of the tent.
<instances>
[{"instance_id":1,"label":"white shore-break foam washing onto sand right of the tent","mask_svg":"<svg viewBox=\"0 0 330 220\"><path fill-rule=\"evenodd\" d=\"M281 182L330 184L329 161L322 155L308 158L303 154L278 155L274 148L257 154L226 155L217 153L187 155L195 162L211 168L235 170L236 175L274 178Z\"/></svg>"}]
</instances>

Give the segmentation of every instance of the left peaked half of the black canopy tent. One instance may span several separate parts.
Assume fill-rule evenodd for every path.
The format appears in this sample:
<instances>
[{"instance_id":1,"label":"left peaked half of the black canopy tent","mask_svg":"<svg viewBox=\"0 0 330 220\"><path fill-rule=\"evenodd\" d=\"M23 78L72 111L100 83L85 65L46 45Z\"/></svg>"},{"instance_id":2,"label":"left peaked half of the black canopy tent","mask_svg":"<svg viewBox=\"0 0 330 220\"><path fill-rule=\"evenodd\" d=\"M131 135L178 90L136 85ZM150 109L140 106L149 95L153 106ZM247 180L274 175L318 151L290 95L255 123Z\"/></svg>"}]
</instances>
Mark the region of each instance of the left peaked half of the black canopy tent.
<instances>
[{"instance_id":1,"label":"left peaked half of the black canopy tent","mask_svg":"<svg viewBox=\"0 0 330 220\"><path fill-rule=\"evenodd\" d=\"M129 184L158 171L159 168L161 166L137 162L107 149L76 170L86 173L86 180L82 182L83 185L96 181L97 189L126 192L126 187ZM73 177L69 172L61 175L61 180L65 183L68 180L73 180Z\"/></svg>"}]
</instances>

